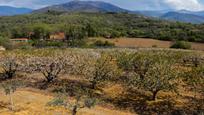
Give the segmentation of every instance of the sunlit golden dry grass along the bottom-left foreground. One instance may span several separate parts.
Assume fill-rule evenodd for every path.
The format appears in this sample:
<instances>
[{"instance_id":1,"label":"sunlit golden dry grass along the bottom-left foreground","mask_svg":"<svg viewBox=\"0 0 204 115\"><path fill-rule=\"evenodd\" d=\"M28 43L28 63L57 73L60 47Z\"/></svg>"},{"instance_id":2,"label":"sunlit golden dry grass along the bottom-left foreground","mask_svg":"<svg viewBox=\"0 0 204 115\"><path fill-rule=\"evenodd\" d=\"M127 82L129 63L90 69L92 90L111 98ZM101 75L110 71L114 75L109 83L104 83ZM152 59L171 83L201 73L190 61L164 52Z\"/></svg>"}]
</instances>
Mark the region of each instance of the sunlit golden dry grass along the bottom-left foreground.
<instances>
[{"instance_id":1,"label":"sunlit golden dry grass along the bottom-left foreground","mask_svg":"<svg viewBox=\"0 0 204 115\"><path fill-rule=\"evenodd\" d=\"M0 114L1 115L69 115L70 111L60 107L45 106L53 97L45 95L36 89L21 89L14 93L16 112L9 111L8 96L0 92ZM81 109L78 115L132 115L129 112L113 110L110 108L96 106L93 109Z\"/></svg>"}]
</instances>

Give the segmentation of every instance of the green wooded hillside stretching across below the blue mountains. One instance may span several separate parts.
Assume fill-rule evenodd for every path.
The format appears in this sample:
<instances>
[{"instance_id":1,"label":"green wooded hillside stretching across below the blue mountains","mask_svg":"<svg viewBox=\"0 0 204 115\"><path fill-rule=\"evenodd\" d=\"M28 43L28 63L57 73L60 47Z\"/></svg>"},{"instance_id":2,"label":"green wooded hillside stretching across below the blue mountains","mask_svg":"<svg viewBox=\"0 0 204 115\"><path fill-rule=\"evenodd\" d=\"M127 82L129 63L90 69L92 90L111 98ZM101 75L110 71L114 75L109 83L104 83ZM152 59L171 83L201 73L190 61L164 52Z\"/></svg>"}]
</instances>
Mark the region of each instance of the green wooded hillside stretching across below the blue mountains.
<instances>
[{"instance_id":1,"label":"green wooded hillside stretching across below the blue mountains","mask_svg":"<svg viewBox=\"0 0 204 115\"><path fill-rule=\"evenodd\" d=\"M204 42L204 25L169 22L127 13L56 13L0 17L0 34L9 38L47 39L64 32L67 39L140 37Z\"/></svg>"}]
</instances>

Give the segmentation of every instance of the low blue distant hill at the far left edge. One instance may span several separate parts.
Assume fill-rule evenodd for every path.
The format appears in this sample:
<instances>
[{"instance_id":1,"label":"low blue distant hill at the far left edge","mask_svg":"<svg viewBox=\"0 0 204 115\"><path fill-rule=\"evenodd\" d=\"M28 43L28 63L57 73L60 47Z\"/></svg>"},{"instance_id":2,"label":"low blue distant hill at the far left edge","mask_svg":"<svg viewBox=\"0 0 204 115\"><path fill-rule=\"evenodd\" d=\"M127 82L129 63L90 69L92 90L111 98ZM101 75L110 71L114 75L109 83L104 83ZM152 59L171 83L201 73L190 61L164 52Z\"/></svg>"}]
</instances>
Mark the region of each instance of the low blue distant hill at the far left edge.
<instances>
[{"instance_id":1,"label":"low blue distant hill at the far left edge","mask_svg":"<svg viewBox=\"0 0 204 115\"><path fill-rule=\"evenodd\" d=\"M19 14L27 14L30 12L32 12L32 9L0 6L0 16L12 16L12 15L19 15Z\"/></svg>"}]
</instances>

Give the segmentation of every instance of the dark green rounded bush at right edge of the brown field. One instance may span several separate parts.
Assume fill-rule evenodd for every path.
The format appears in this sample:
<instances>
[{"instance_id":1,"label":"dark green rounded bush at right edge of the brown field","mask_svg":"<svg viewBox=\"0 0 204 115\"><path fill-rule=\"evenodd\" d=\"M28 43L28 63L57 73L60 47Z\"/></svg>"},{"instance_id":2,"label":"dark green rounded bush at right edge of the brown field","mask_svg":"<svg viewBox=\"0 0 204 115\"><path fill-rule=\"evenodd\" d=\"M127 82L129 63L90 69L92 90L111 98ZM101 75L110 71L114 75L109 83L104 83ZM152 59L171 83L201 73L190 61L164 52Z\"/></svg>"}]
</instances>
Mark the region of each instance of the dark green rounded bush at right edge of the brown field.
<instances>
[{"instance_id":1,"label":"dark green rounded bush at right edge of the brown field","mask_svg":"<svg viewBox=\"0 0 204 115\"><path fill-rule=\"evenodd\" d=\"M191 49L191 44L185 41L176 41L170 48Z\"/></svg>"}]
</instances>

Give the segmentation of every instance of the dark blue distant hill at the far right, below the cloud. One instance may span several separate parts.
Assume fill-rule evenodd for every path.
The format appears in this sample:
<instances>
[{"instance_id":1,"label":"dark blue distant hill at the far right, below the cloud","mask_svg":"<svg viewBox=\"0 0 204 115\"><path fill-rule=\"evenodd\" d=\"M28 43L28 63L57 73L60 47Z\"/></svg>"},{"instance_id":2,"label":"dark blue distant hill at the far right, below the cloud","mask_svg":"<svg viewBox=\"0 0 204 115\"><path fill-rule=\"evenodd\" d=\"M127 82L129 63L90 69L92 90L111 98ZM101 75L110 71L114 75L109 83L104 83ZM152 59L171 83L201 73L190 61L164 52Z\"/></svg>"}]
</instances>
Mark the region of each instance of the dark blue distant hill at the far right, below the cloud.
<instances>
[{"instance_id":1,"label":"dark blue distant hill at the far right, below the cloud","mask_svg":"<svg viewBox=\"0 0 204 115\"><path fill-rule=\"evenodd\" d=\"M204 23L204 17L190 13L168 12L162 15L160 18L194 24Z\"/></svg>"}]
</instances>

